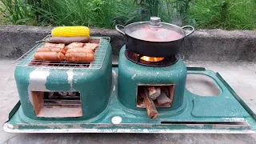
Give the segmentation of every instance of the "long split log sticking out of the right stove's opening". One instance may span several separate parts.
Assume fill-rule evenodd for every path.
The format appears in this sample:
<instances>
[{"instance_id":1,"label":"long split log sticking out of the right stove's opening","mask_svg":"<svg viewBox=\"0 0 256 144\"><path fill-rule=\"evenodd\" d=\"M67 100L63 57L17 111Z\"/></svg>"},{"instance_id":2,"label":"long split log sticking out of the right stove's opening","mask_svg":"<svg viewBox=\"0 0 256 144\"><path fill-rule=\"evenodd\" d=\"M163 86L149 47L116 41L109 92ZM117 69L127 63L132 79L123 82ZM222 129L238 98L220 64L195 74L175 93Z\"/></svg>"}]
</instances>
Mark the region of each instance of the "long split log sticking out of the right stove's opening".
<instances>
[{"instance_id":1,"label":"long split log sticking out of the right stove's opening","mask_svg":"<svg viewBox=\"0 0 256 144\"><path fill-rule=\"evenodd\" d=\"M148 97L148 94L146 94L145 89L140 90L141 97L143 98L143 103L146 107L147 114L150 116L150 118L157 119L158 117L158 110L154 106L154 102L152 99Z\"/></svg>"}]
</instances>

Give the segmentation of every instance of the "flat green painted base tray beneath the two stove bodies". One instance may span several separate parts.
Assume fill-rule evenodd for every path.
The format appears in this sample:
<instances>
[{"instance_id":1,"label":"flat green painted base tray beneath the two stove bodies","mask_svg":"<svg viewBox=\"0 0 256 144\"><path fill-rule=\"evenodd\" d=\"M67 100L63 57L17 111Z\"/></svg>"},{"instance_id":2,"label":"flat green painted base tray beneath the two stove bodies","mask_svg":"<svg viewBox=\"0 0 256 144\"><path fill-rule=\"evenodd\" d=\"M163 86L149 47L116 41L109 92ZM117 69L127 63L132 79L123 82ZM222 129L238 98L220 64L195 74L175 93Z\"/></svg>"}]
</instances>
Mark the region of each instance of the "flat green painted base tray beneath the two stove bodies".
<instances>
[{"instance_id":1,"label":"flat green painted base tray beneath the two stove bodies","mask_svg":"<svg viewBox=\"0 0 256 144\"><path fill-rule=\"evenodd\" d=\"M146 111L141 110L132 110L128 109L126 106L123 106L121 102L118 101L117 90L114 87L117 86L117 77L118 77L118 68L113 68L113 84L112 94L110 96L109 106L94 118L87 120L81 120L78 118L73 118L73 120L61 119L55 121L53 119L47 120L36 120L31 121L30 118L22 118L22 107L20 107L17 112L14 114L10 121L8 122L14 126L14 130L52 130L52 129L96 129L98 132L118 132L120 129L131 130L132 132L164 132L166 130L226 130L225 127L217 127L211 124L204 124L199 126L191 126L186 124L173 124L173 125L164 125L161 122L235 122L244 120L248 122L252 130L256 130L256 122L254 118L250 117L246 110L242 108L239 103L236 104L236 108L232 108L237 112L234 112L233 115L226 115L226 117L208 117L203 116L204 111L214 111L215 107L206 106L205 110L202 110L201 115L198 117L192 114L194 110L193 100L200 99L202 97L190 93L186 90L184 95L184 102L186 103L185 108L182 109L180 114L176 114L175 110L172 111L160 111L158 120L150 120L147 116ZM222 93L218 97L224 97L231 100L234 100L234 96L223 86L222 82L216 77L215 73L210 70L189 70L188 74L206 74L211 78L214 78L214 81L221 87ZM214 97L209 97L211 101L215 101ZM207 103L205 103L207 105ZM229 111L230 106L226 106L225 109L222 109L222 112L225 114L226 110ZM242 114L241 114L242 113ZM119 116L122 118L122 122L118 125L114 125L111 122L111 119L114 116ZM238 128L229 128L227 130L248 130L249 127L238 127ZM50 132L50 131L49 131ZM120 132L120 131L119 131Z\"/></svg>"}]
</instances>

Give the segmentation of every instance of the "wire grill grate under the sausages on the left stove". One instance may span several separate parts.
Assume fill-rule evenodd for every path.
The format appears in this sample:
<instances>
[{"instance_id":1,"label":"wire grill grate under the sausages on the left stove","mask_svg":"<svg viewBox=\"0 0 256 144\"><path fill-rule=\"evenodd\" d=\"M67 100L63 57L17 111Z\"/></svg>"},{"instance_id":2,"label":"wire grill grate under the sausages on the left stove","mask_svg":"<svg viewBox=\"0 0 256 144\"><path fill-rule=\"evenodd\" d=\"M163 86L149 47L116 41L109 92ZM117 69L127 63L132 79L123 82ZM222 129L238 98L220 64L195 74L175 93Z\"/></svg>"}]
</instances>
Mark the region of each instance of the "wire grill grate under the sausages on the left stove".
<instances>
[{"instance_id":1,"label":"wire grill grate under the sausages on the left stove","mask_svg":"<svg viewBox=\"0 0 256 144\"><path fill-rule=\"evenodd\" d=\"M14 66L42 67L47 69L100 69L106 56L106 51L110 44L110 37L90 37L90 43L98 43L99 46L95 50L94 62L55 62L55 61L39 61L34 59L37 48L41 47L44 42L34 46L31 50L18 58L13 64Z\"/></svg>"}]
</instances>

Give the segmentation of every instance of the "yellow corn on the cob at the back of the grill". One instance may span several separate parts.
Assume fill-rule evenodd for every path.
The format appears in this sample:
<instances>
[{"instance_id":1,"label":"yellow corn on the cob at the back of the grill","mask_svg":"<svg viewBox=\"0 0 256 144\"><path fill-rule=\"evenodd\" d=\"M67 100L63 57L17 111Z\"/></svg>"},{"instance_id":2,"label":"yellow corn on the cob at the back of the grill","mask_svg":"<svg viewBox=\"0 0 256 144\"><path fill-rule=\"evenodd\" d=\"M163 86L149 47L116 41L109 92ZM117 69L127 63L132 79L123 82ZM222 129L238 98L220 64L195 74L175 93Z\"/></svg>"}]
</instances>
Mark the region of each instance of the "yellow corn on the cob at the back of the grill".
<instances>
[{"instance_id":1,"label":"yellow corn on the cob at the back of the grill","mask_svg":"<svg viewBox=\"0 0 256 144\"><path fill-rule=\"evenodd\" d=\"M59 26L51 31L52 37L90 37L90 29L86 26Z\"/></svg>"}]
</instances>

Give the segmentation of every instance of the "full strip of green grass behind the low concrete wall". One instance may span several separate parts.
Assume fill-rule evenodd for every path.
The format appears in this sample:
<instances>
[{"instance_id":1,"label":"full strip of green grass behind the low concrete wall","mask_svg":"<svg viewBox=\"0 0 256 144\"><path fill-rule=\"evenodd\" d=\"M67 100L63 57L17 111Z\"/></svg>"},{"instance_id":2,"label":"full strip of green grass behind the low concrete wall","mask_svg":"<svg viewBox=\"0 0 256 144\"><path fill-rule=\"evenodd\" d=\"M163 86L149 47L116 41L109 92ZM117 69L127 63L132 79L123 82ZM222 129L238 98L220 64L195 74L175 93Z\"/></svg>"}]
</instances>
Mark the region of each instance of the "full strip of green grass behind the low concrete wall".
<instances>
[{"instance_id":1,"label":"full strip of green grass behind the low concrete wall","mask_svg":"<svg viewBox=\"0 0 256 144\"><path fill-rule=\"evenodd\" d=\"M255 0L2 0L0 24L91 26L147 21L150 16L178 26L252 30Z\"/></svg>"}]
</instances>

